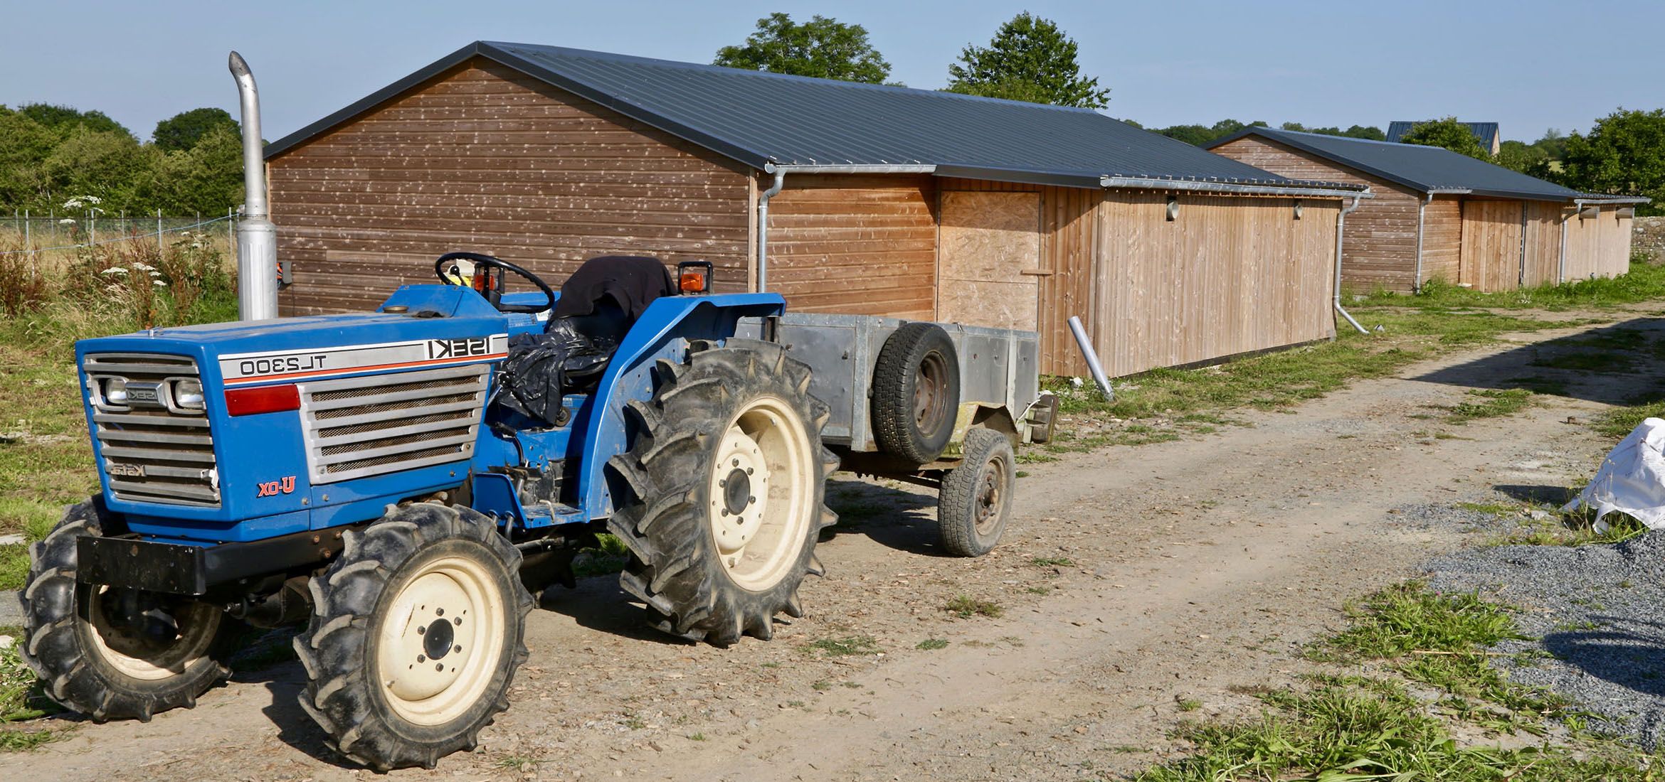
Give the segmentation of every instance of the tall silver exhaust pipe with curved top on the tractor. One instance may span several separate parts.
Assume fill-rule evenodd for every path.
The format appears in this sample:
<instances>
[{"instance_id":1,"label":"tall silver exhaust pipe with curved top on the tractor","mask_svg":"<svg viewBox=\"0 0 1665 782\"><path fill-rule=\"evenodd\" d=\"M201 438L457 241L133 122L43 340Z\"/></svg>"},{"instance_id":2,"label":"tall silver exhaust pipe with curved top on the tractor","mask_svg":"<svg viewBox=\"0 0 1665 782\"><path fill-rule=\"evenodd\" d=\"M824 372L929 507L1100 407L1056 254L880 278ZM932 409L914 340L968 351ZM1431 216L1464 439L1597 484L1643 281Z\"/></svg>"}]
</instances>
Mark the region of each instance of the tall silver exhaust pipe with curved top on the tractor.
<instances>
[{"instance_id":1,"label":"tall silver exhaust pipe with curved top on the tractor","mask_svg":"<svg viewBox=\"0 0 1665 782\"><path fill-rule=\"evenodd\" d=\"M278 316L278 226L266 210L266 160L260 141L260 93L243 55L231 52L231 78L243 108L243 220L236 225L236 314Z\"/></svg>"}]
</instances>

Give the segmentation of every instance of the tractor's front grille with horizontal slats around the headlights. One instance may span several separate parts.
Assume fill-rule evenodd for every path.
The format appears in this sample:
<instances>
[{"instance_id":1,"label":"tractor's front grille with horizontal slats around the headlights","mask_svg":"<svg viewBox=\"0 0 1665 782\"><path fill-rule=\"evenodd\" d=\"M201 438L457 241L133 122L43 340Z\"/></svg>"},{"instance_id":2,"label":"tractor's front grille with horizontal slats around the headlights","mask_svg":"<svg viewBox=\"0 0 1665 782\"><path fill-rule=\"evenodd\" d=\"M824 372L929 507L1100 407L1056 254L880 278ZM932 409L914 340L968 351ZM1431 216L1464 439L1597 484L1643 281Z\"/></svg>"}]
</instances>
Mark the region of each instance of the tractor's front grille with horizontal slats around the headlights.
<instances>
[{"instance_id":1,"label":"tractor's front grille with horizontal slats around the headlights","mask_svg":"<svg viewBox=\"0 0 1665 782\"><path fill-rule=\"evenodd\" d=\"M82 361L93 399L93 436L110 492L128 502L218 507L220 473L213 434L201 413L165 406L117 406L103 401L100 383L158 383L196 378L188 356L93 353Z\"/></svg>"}]
</instances>

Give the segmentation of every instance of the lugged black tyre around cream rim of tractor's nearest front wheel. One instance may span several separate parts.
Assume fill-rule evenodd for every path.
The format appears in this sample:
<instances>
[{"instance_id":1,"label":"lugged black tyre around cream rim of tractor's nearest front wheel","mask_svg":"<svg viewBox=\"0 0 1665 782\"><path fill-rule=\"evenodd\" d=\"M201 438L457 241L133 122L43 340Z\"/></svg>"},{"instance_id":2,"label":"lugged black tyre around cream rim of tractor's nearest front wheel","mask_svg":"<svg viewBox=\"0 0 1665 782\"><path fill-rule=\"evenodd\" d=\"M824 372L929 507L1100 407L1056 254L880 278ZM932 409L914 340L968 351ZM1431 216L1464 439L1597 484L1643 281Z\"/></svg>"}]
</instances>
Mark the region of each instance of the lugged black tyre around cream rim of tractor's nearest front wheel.
<instances>
[{"instance_id":1,"label":"lugged black tyre around cream rim of tractor's nearest front wheel","mask_svg":"<svg viewBox=\"0 0 1665 782\"><path fill-rule=\"evenodd\" d=\"M418 737L401 730L403 720L378 702L370 636L386 587L400 567L428 544L448 539L480 542L501 561L514 602L504 616L513 627L513 642L496 694L488 690L470 714L453 720L461 722L456 730L431 730ZM313 616L306 631L295 637L295 652L308 674L300 705L323 729L325 742L378 772L411 765L433 769L441 757L476 747L480 730L508 709L514 671L528 657L524 624L533 599L518 577L519 562L519 551L498 534L496 526L468 507L433 502L395 506L370 527L348 531L341 556L311 579Z\"/></svg>"}]
</instances>

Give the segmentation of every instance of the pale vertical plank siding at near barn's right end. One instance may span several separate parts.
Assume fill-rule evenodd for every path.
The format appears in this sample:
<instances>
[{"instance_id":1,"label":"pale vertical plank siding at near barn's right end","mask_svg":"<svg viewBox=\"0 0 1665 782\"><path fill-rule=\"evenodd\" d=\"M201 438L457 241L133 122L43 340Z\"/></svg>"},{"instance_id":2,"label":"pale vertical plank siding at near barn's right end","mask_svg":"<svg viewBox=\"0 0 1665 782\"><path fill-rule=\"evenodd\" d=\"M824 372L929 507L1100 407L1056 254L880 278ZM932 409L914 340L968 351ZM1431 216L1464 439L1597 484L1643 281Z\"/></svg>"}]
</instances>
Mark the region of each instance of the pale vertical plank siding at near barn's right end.
<instances>
[{"instance_id":1,"label":"pale vertical plank siding at near barn's right end","mask_svg":"<svg viewBox=\"0 0 1665 782\"><path fill-rule=\"evenodd\" d=\"M1214 361L1335 336L1340 203L1111 191L1099 206L1097 338L1106 373Z\"/></svg>"}]
</instances>

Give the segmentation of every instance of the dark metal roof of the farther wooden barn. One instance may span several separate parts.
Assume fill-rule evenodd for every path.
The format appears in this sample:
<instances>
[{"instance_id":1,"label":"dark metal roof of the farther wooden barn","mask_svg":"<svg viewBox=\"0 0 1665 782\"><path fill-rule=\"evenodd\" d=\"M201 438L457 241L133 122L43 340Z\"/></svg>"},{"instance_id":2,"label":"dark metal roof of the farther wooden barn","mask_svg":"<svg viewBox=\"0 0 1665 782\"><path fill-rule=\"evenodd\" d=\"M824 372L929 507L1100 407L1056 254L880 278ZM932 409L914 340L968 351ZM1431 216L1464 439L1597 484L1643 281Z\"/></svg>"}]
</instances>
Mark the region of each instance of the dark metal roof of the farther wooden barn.
<instances>
[{"instance_id":1,"label":"dark metal roof of the farther wooden barn","mask_svg":"<svg viewBox=\"0 0 1665 782\"><path fill-rule=\"evenodd\" d=\"M1605 201L1647 203L1647 198L1580 193L1553 181L1527 176L1503 166L1475 160L1440 146L1422 146L1365 138L1329 136L1322 133L1295 133L1275 128L1244 128L1225 138L1204 145L1215 148L1244 136L1262 136L1295 150L1317 155L1332 163L1380 176L1422 193L1460 193L1494 198L1523 198L1532 201Z\"/></svg>"}]
</instances>

